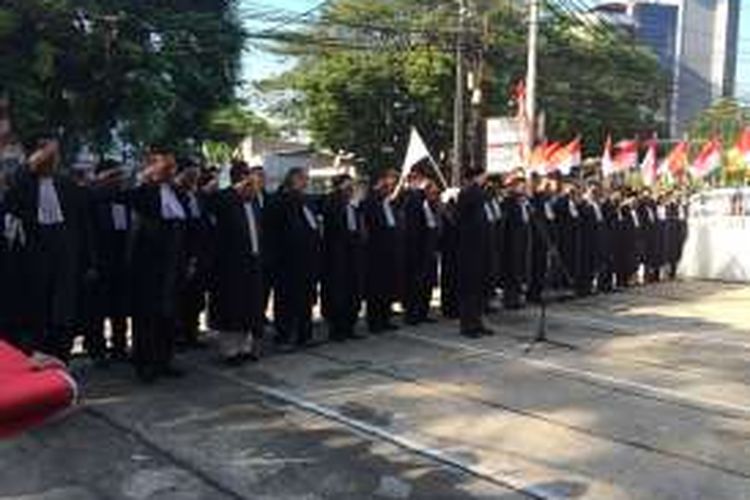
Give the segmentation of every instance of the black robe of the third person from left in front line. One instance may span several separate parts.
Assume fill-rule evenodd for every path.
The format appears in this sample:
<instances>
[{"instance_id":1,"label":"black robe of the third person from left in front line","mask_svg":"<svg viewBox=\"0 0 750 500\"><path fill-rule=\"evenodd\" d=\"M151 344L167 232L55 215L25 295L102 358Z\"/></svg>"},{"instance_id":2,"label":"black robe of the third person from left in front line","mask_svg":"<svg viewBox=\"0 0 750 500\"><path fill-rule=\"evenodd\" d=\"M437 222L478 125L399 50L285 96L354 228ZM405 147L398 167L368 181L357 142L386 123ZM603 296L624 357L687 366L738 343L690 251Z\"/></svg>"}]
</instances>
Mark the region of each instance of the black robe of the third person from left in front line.
<instances>
[{"instance_id":1,"label":"black robe of the third person from left in front line","mask_svg":"<svg viewBox=\"0 0 750 500\"><path fill-rule=\"evenodd\" d=\"M263 238L260 213L253 204L258 253L252 251L245 201L234 189L207 200L215 221L213 245L218 249L211 270L210 322L220 332L253 332L263 328Z\"/></svg>"}]
</instances>

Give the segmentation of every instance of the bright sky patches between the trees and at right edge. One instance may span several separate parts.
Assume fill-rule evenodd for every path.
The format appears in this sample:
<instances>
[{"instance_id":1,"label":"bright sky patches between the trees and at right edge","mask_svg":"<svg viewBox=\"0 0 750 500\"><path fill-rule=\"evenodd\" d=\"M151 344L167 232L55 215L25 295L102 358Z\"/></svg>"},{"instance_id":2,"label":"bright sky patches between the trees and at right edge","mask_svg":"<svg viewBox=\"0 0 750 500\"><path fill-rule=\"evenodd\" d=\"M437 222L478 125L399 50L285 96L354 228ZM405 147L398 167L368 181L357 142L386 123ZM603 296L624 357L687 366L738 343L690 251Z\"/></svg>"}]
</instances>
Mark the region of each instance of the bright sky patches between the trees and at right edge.
<instances>
[{"instance_id":1,"label":"bright sky patches between the trees and at right edge","mask_svg":"<svg viewBox=\"0 0 750 500\"><path fill-rule=\"evenodd\" d=\"M266 5L293 12L306 12L320 4L321 0L243 0L253 5ZM737 85L736 93L741 99L750 102L750 0L740 0L740 34L737 48ZM259 23L250 24L250 29L257 29ZM287 68L290 61L284 61L270 54L249 50L243 62L243 74L246 81L262 80Z\"/></svg>"}]
</instances>

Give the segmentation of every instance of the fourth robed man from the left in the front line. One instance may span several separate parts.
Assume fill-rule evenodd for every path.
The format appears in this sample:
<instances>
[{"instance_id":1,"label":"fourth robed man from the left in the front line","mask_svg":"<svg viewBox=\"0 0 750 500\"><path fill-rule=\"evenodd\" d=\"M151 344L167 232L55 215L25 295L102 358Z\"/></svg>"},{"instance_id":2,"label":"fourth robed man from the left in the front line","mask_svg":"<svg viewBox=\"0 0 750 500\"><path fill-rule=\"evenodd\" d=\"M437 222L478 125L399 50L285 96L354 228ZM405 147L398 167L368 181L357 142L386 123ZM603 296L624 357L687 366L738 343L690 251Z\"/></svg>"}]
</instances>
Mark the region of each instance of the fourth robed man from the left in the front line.
<instances>
[{"instance_id":1,"label":"fourth robed man from the left in the front line","mask_svg":"<svg viewBox=\"0 0 750 500\"><path fill-rule=\"evenodd\" d=\"M276 194L271 223L274 244L276 341L305 347L312 341L312 310L317 301L321 231L305 196L307 172L289 171Z\"/></svg>"}]
</instances>

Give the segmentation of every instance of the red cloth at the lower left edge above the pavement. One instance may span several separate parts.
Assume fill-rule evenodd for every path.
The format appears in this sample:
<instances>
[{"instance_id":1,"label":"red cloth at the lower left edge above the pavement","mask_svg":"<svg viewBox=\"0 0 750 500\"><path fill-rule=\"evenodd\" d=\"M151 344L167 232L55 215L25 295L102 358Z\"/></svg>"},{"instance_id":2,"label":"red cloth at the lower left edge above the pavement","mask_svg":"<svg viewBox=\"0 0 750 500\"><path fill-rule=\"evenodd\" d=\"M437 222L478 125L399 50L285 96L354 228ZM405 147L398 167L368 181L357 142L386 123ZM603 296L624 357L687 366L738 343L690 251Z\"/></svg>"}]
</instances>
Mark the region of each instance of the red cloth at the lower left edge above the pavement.
<instances>
[{"instance_id":1,"label":"red cloth at the lower left edge above the pavement","mask_svg":"<svg viewBox=\"0 0 750 500\"><path fill-rule=\"evenodd\" d=\"M64 369L39 368L0 341L0 439L39 425L70 407L76 391Z\"/></svg>"}]
</instances>

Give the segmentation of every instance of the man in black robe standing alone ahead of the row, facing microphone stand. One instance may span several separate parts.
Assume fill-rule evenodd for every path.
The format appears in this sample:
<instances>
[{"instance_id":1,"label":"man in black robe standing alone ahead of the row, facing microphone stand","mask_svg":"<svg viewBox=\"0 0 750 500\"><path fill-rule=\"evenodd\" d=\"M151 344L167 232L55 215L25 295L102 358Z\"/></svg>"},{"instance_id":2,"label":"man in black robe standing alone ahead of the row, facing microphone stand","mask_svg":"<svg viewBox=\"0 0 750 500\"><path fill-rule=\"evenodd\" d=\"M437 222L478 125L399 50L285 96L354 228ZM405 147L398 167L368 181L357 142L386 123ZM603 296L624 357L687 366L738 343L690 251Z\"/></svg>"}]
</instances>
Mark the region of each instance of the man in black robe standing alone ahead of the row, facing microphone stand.
<instances>
[{"instance_id":1,"label":"man in black robe standing alone ahead of the row, facing microphone stand","mask_svg":"<svg viewBox=\"0 0 750 500\"><path fill-rule=\"evenodd\" d=\"M492 220L486 210L487 196L484 190L486 181L484 172L470 171L456 207L461 334L470 338L491 333L482 320L492 252L489 238Z\"/></svg>"}]
</instances>

